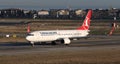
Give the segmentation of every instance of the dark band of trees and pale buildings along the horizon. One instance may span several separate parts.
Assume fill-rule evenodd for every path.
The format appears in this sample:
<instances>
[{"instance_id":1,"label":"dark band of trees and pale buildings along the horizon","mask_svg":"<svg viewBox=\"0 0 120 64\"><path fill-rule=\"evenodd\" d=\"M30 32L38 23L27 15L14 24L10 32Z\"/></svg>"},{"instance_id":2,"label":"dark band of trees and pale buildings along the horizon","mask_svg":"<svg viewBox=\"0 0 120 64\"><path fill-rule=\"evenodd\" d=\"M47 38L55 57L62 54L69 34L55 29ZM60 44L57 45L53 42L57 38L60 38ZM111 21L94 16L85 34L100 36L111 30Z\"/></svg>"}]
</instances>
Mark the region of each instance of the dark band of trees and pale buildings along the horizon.
<instances>
[{"instance_id":1,"label":"dark band of trees and pale buildings along the horizon","mask_svg":"<svg viewBox=\"0 0 120 64\"><path fill-rule=\"evenodd\" d=\"M50 9L50 10L24 10L0 9L0 18L20 19L84 19L88 9ZM94 9L92 19L120 19L120 9Z\"/></svg>"}]
</instances>

